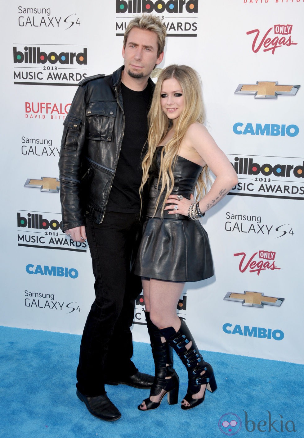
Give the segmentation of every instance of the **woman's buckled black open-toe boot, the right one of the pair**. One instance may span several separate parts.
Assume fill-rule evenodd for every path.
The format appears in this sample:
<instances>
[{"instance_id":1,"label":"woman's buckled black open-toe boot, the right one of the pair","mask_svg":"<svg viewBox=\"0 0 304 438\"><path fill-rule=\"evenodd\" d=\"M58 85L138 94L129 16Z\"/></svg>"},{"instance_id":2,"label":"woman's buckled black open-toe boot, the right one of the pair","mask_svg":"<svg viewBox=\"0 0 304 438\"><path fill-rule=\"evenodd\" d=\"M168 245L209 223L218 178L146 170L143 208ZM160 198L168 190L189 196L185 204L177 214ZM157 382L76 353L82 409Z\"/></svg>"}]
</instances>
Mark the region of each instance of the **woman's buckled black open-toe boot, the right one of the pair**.
<instances>
[{"instance_id":1,"label":"woman's buckled black open-toe boot, the right one of the pair","mask_svg":"<svg viewBox=\"0 0 304 438\"><path fill-rule=\"evenodd\" d=\"M178 332L175 332L173 327L161 329L160 332L174 348L188 371L188 389L184 399L190 406L182 405L182 409L185 410L194 408L194 406L204 401L205 393L201 399L192 399L192 395L199 392L200 385L207 385L206 389L210 392L214 392L217 389L217 383L211 365L203 360L185 321L183 321L182 318L180 318L180 320L181 327ZM192 342L192 345L187 349L186 345L190 342ZM205 372L203 373L203 371Z\"/></svg>"}]
</instances>

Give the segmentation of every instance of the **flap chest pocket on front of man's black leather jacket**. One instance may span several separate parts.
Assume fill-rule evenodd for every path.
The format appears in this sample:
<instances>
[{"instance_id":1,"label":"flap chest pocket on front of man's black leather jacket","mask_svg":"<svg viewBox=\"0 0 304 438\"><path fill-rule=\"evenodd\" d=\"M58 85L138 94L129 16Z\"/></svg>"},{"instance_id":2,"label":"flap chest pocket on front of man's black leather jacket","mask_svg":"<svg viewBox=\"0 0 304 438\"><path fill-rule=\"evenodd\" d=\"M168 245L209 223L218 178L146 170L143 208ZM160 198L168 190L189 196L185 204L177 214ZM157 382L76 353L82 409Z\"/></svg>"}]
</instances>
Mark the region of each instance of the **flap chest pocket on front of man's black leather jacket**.
<instances>
[{"instance_id":1,"label":"flap chest pocket on front of man's black leather jacket","mask_svg":"<svg viewBox=\"0 0 304 438\"><path fill-rule=\"evenodd\" d=\"M111 141L117 102L91 102L86 109L89 140Z\"/></svg>"}]
</instances>

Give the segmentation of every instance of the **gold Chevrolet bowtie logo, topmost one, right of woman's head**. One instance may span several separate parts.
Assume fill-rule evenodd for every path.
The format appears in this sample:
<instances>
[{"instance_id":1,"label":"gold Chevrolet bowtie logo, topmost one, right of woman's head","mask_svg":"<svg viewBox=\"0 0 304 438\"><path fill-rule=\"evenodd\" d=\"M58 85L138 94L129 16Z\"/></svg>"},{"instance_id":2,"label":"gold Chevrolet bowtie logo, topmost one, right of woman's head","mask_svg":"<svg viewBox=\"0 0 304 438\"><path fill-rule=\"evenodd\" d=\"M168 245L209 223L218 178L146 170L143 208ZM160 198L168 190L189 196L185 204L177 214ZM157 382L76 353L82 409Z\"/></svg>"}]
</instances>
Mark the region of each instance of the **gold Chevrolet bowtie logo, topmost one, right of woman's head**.
<instances>
[{"instance_id":1,"label":"gold Chevrolet bowtie logo, topmost one, right of woman's head","mask_svg":"<svg viewBox=\"0 0 304 438\"><path fill-rule=\"evenodd\" d=\"M256 85L239 84L234 94L254 94L255 99L277 99L278 94L294 96L301 85L278 85L277 82L257 82Z\"/></svg>"}]
</instances>

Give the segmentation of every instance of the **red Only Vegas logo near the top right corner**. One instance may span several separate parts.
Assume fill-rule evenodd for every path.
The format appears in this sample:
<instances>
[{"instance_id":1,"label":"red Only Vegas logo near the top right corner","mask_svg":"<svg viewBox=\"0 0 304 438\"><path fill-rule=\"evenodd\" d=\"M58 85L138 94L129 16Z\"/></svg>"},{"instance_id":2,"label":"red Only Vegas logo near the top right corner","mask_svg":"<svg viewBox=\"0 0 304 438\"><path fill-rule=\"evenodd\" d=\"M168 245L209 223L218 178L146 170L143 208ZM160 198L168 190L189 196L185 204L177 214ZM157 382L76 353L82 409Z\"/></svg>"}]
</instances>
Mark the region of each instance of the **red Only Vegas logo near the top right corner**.
<instances>
[{"instance_id":1,"label":"red Only Vegas logo near the top right corner","mask_svg":"<svg viewBox=\"0 0 304 438\"><path fill-rule=\"evenodd\" d=\"M246 32L247 35L253 36L252 51L258 53L262 49L263 52L270 52L274 55L276 49L280 47L296 46L291 38L292 25L274 25L265 33L259 29L253 29Z\"/></svg>"}]
</instances>

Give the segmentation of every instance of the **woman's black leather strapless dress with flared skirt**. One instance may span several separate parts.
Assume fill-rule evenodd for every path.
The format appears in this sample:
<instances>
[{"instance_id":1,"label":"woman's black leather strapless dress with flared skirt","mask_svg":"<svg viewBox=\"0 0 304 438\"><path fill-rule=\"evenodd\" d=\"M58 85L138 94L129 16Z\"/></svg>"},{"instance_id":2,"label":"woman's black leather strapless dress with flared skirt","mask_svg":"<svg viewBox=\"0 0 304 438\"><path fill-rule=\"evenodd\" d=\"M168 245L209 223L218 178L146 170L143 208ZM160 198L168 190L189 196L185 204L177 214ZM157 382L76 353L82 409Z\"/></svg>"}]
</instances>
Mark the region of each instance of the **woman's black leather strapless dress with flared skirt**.
<instances>
[{"instance_id":1,"label":"woman's black leather strapless dress with flared skirt","mask_svg":"<svg viewBox=\"0 0 304 438\"><path fill-rule=\"evenodd\" d=\"M159 189L157 179L160 170L161 146L157 148L148 180L148 205L143 235L136 257L134 273L138 276L185 282L199 281L214 275L209 239L199 221L180 214L161 217L160 199L153 216ZM172 194L182 194L190 199L203 168L178 156L173 170Z\"/></svg>"}]
</instances>

